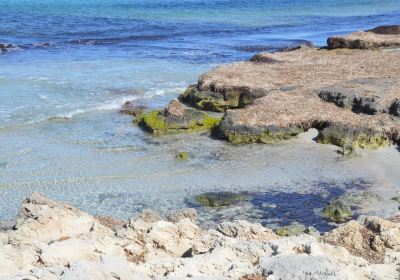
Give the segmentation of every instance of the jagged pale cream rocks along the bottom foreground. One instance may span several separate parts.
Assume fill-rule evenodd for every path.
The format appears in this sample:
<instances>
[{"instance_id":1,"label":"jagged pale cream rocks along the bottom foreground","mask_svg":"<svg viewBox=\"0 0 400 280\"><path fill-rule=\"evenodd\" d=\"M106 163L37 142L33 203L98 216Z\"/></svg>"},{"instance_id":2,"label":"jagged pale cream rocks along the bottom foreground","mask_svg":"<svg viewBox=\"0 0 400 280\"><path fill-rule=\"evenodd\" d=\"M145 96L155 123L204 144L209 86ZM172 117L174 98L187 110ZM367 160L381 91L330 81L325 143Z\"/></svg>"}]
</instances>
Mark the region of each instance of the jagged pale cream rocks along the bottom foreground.
<instances>
[{"instance_id":1,"label":"jagged pale cream rocks along the bottom foreground","mask_svg":"<svg viewBox=\"0 0 400 280\"><path fill-rule=\"evenodd\" d=\"M39 193L0 231L0 279L397 279L400 217L369 216L322 235L260 224L196 225L196 211L95 217Z\"/></svg>"}]
</instances>

